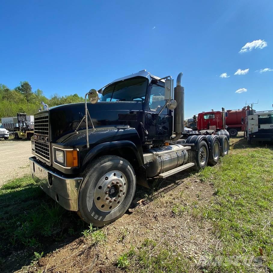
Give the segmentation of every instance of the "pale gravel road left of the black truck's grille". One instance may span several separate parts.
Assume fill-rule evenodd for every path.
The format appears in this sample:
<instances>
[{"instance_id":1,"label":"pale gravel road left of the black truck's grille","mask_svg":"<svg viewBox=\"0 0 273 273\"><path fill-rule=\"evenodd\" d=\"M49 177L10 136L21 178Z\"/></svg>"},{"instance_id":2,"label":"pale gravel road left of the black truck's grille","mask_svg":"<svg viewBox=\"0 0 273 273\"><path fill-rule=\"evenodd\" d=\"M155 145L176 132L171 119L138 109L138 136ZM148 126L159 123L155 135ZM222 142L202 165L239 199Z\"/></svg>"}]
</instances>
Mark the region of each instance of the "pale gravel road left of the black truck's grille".
<instances>
[{"instance_id":1,"label":"pale gravel road left of the black truck's grille","mask_svg":"<svg viewBox=\"0 0 273 273\"><path fill-rule=\"evenodd\" d=\"M10 179L30 173L31 155L29 140L0 140L0 187Z\"/></svg>"}]
</instances>

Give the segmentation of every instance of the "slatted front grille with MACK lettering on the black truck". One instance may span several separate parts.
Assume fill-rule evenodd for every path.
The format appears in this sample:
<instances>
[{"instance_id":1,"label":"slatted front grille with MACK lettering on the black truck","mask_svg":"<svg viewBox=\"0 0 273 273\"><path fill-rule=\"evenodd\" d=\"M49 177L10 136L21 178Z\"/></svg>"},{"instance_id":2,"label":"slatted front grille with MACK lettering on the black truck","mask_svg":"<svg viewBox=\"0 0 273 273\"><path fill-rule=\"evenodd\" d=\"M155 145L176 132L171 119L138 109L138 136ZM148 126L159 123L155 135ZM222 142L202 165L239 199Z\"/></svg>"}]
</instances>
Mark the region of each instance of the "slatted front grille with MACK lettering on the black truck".
<instances>
[{"instance_id":1,"label":"slatted front grille with MACK lettering on the black truck","mask_svg":"<svg viewBox=\"0 0 273 273\"><path fill-rule=\"evenodd\" d=\"M50 161L48 113L34 117L35 154Z\"/></svg>"}]
</instances>

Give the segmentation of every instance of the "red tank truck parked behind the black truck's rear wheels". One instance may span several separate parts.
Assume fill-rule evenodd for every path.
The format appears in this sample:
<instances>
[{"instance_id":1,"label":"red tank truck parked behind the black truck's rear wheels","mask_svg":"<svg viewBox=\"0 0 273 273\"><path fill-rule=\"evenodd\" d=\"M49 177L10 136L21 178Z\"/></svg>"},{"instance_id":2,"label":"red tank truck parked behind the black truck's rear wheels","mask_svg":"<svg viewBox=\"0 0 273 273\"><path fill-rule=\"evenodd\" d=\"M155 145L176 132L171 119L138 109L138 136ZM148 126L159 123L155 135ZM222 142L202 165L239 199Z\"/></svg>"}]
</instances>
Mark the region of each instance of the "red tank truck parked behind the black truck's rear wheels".
<instances>
[{"instance_id":1,"label":"red tank truck parked behind the black truck's rear wheels","mask_svg":"<svg viewBox=\"0 0 273 273\"><path fill-rule=\"evenodd\" d=\"M238 131L245 130L245 117L250 107L246 106L241 110L210 111L202 112L197 117L197 130L215 130L226 129L231 137L236 137Z\"/></svg>"}]
</instances>

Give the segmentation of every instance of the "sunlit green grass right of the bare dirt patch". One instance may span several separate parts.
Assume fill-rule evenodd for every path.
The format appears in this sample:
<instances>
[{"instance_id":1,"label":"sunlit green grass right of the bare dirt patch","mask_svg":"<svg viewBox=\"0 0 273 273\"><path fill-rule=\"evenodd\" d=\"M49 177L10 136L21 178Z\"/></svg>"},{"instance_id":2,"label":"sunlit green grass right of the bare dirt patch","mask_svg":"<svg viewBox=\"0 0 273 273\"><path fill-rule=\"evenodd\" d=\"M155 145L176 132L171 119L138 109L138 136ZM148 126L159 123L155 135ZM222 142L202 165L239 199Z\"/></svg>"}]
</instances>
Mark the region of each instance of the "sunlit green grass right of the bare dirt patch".
<instances>
[{"instance_id":1,"label":"sunlit green grass right of the bare dirt patch","mask_svg":"<svg viewBox=\"0 0 273 273\"><path fill-rule=\"evenodd\" d=\"M234 149L218 167L207 167L199 177L213 183L210 205L199 208L213 223L222 246L215 253L224 261L220 271L246 272L261 256L273 270L273 151L266 148ZM237 262L232 262L236 260Z\"/></svg>"}]
</instances>

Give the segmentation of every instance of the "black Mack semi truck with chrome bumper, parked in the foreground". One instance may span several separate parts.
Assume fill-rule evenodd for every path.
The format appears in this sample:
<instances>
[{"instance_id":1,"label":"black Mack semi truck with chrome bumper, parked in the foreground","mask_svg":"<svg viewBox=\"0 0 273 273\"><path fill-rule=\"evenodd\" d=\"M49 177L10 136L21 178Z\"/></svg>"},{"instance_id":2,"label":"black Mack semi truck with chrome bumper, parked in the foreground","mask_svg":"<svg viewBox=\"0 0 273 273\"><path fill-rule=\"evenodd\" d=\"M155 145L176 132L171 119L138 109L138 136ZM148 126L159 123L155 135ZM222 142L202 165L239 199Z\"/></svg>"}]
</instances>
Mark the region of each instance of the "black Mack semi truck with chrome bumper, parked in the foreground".
<instances>
[{"instance_id":1,"label":"black Mack semi truck with chrome bumper, parked in the foreground","mask_svg":"<svg viewBox=\"0 0 273 273\"><path fill-rule=\"evenodd\" d=\"M91 89L85 103L36 113L33 179L62 207L103 226L125 213L137 183L149 188L149 178L215 165L229 151L228 137L183 138L182 75L173 88L171 76L142 70Z\"/></svg>"}]
</instances>

